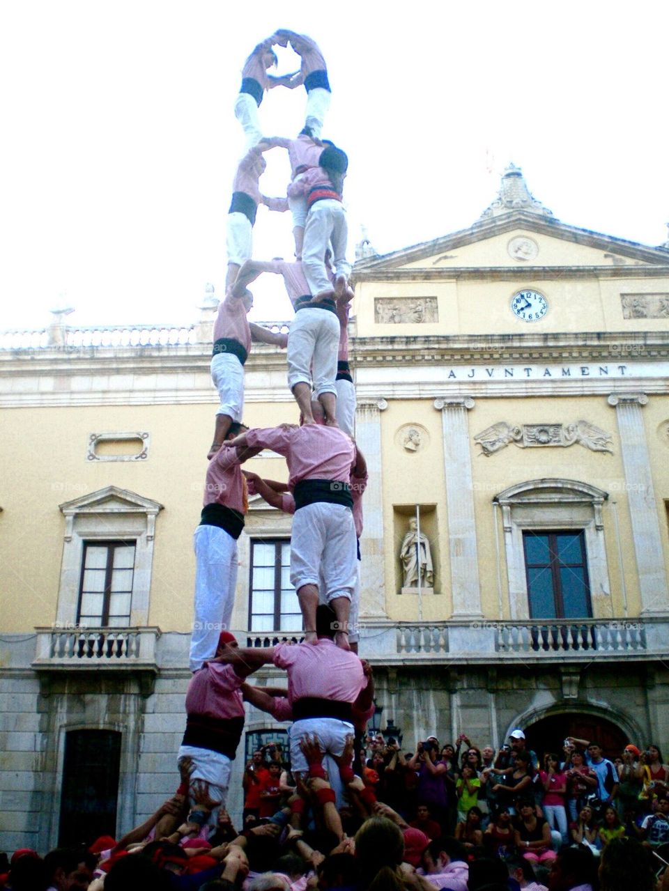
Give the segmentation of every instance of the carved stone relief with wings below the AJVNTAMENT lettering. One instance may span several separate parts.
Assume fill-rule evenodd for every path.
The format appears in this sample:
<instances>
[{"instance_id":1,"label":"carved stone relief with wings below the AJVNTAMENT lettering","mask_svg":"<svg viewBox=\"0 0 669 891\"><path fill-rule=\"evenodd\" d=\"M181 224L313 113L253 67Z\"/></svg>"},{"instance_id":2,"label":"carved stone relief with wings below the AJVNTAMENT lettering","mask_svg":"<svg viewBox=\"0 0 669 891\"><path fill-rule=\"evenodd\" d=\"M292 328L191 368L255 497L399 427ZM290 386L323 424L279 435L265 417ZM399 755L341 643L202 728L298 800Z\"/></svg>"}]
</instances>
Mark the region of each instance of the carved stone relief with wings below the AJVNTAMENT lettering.
<instances>
[{"instance_id":1,"label":"carved stone relief with wings below the AJVNTAMENT lettering","mask_svg":"<svg viewBox=\"0 0 669 891\"><path fill-rule=\"evenodd\" d=\"M606 430L595 427L590 421L575 421L573 424L523 424L513 426L506 421L498 421L474 437L481 446L481 454L489 457L510 443L518 448L535 446L584 446L591 452L613 454L608 447L612 439Z\"/></svg>"}]
</instances>

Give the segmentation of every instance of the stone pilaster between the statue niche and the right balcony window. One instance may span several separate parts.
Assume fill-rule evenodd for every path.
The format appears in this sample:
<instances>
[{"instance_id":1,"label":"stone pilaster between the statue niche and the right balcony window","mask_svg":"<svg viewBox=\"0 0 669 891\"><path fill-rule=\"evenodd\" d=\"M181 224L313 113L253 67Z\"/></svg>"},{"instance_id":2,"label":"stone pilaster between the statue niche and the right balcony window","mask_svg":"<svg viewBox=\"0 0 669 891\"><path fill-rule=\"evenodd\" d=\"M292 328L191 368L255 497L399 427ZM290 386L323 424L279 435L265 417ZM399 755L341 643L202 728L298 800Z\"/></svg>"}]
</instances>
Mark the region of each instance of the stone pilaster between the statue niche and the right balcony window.
<instances>
[{"instance_id":1,"label":"stone pilaster between the statue niche and the right balcony window","mask_svg":"<svg viewBox=\"0 0 669 891\"><path fill-rule=\"evenodd\" d=\"M435 399L434 405L441 412L444 432L453 618L480 618L483 613L467 423L467 412L474 407L474 400L469 396Z\"/></svg>"}]
</instances>

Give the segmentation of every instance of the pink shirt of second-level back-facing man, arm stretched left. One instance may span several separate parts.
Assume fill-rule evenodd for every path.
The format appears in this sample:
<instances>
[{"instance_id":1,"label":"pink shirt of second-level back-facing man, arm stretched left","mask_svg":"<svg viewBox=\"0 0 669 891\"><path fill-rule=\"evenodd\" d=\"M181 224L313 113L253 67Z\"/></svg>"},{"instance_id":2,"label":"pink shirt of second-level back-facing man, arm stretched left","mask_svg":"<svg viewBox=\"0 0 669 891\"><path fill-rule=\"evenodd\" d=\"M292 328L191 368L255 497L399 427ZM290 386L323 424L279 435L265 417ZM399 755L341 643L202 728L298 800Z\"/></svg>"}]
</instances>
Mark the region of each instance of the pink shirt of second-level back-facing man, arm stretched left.
<instances>
[{"instance_id":1,"label":"pink shirt of second-level back-facing man, arm stretched left","mask_svg":"<svg viewBox=\"0 0 669 891\"><path fill-rule=\"evenodd\" d=\"M302 479L331 479L347 483L355 461L355 448L346 433L337 427L306 424L292 429L265 428L249 430L251 448L269 448L282 454L292 492Z\"/></svg>"}]
</instances>

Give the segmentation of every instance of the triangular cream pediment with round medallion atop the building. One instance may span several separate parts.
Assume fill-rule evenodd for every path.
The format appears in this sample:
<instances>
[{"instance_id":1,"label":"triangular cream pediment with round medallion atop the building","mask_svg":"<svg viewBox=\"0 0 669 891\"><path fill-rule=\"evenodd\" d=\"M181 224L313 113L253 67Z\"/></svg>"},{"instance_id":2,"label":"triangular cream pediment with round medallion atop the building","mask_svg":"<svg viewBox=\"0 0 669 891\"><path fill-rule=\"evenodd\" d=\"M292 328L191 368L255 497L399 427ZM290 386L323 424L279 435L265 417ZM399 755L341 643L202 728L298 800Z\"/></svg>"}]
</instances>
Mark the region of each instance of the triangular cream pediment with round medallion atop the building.
<instances>
[{"instance_id":1,"label":"triangular cream pediment with round medallion atop the building","mask_svg":"<svg viewBox=\"0 0 669 891\"><path fill-rule=\"evenodd\" d=\"M367 257L355 264L358 280L377 274L499 269L597 266L603 268L664 266L669 271L669 250L591 232L540 217L527 210L510 210L501 217L484 219L460 232L425 241L382 257Z\"/></svg>"}]
</instances>

